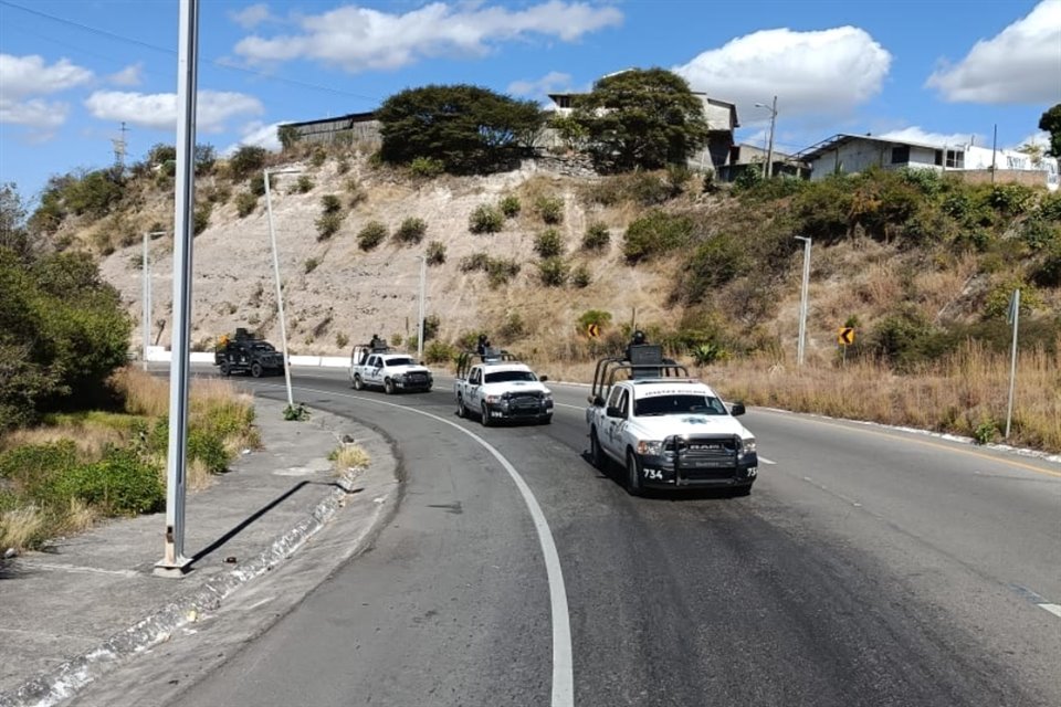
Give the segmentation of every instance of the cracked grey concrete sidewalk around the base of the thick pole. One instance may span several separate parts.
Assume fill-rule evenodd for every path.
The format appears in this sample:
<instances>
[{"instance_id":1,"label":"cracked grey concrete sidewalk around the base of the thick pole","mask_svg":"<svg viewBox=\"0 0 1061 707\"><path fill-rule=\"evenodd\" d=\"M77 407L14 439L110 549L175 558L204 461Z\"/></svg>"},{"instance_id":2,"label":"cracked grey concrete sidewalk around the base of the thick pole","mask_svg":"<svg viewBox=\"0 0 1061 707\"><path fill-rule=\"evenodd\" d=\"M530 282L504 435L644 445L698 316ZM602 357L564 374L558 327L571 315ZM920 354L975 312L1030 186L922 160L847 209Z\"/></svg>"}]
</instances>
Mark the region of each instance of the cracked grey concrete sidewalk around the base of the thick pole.
<instances>
[{"instance_id":1,"label":"cracked grey concrete sidewalk around the base of the thick pole","mask_svg":"<svg viewBox=\"0 0 1061 707\"><path fill-rule=\"evenodd\" d=\"M318 411L308 422L287 422L282 403L261 398L255 410L264 449L188 494L185 553L193 571L183 578L153 573L165 514L106 523L0 564L0 706L64 700L218 609L337 513L357 514L366 526L381 521L398 493L384 437ZM337 477L326 457L344 437L372 462Z\"/></svg>"}]
</instances>

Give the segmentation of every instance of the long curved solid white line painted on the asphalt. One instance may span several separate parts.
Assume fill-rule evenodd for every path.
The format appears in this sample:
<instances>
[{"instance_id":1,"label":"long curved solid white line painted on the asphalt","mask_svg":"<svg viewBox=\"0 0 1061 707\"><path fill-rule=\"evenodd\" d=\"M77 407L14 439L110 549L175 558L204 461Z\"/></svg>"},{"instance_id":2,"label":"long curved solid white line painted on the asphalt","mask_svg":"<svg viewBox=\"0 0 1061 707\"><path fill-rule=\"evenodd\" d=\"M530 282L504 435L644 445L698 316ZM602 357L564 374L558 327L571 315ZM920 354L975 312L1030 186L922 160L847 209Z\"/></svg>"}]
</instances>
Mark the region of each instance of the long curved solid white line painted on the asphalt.
<instances>
[{"instance_id":1,"label":"long curved solid white line painted on the asphalt","mask_svg":"<svg viewBox=\"0 0 1061 707\"><path fill-rule=\"evenodd\" d=\"M280 386L270 387L280 388ZM490 452L502 465L502 467L508 472L508 476L516 485L516 488L519 489L519 494L523 496L523 502L526 504L527 510L530 511L532 520L534 520L534 529L538 534L538 545L542 546L542 555L545 558L545 572L549 581L549 605L553 613L553 700L550 705L551 707L574 707L575 671L571 658L571 620L567 608L567 589L564 587L564 572L560 568L560 556L556 551L556 542L553 540L553 532L549 530L549 523L546 520L545 514L542 513L542 506L538 505L537 498L534 497L534 493L530 490L530 487L527 486L527 483L523 479L523 476L519 475L519 472L516 471L516 467L514 467L508 460L506 460L504 455L498 452L497 449L494 447L494 445L492 445L490 442L479 436L471 430L462 428L461 425L451 420L447 420L445 418L440 418L437 414L418 410L416 408L410 408L408 405L400 405L398 403L367 398L365 395L351 395L349 393L340 393L333 390L315 390L313 388L301 389L322 395L339 395L343 398L349 398L351 400L363 400L365 402L387 405L389 408L399 408L418 415L423 415L424 418L431 418L437 422L441 422L455 430L460 430L468 436L472 437L477 444Z\"/></svg>"}]
</instances>

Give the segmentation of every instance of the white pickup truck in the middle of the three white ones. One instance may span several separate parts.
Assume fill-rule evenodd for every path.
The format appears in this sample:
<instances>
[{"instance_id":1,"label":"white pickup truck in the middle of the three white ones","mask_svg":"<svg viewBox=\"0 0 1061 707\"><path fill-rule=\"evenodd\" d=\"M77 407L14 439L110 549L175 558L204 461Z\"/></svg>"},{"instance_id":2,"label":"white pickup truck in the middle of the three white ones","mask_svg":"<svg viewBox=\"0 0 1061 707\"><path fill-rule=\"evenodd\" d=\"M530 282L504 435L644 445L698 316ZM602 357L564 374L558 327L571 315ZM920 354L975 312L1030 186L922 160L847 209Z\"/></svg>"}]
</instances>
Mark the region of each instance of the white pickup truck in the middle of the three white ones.
<instances>
[{"instance_id":1,"label":"white pickup truck in the middle of the three white ones","mask_svg":"<svg viewBox=\"0 0 1061 707\"><path fill-rule=\"evenodd\" d=\"M482 362L465 355L458 361L453 381L456 414L477 414L483 426L505 420L548 424L553 421L553 391L543 384L546 380L501 351L487 352Z\"/></svg>"}]
</instances>

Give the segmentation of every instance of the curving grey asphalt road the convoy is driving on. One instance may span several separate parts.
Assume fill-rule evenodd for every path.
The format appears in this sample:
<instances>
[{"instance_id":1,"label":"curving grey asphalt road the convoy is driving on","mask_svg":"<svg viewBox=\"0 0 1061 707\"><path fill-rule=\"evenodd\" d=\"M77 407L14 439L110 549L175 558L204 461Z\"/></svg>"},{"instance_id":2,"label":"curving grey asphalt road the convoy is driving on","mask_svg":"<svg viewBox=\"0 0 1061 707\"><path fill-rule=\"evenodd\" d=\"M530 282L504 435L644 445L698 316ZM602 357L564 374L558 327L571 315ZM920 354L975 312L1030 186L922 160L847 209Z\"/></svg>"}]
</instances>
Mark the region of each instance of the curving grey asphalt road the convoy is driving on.
<instances>
[{"instance_id":1,"label":"curving grey asphalt road the convoy is driving on","mask_svg":"<svg viewBox=\"0 0 1061 707\"><path fill-rule=\"evenodd\" d=\"M585 389L487 430L447 380L294 383L395 440L403 500L180 705L1061 705L1057 464L753 410L750 497L633 498L585 458Z\"/></svg>"}]
</instances>

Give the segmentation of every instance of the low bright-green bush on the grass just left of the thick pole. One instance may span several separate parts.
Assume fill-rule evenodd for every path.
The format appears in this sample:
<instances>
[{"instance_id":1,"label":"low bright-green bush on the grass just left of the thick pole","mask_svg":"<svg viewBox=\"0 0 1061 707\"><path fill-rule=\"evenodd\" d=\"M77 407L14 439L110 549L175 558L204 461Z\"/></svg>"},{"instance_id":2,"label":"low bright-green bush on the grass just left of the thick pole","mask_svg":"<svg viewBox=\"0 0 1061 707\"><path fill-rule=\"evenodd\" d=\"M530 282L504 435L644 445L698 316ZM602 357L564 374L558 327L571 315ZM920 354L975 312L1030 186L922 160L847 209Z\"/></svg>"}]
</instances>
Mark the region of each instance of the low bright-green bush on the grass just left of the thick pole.
<instances>
[{"instance_id":1,"label":"low bright-green bush on the grass just left of the thick pole","mask_svg":"<svg viewBox=\"0 0 1061 707\"><path fill-rule=\"evenodd\" d=\"M71 468L57 483L62 496L80 498L111 516L155 513L166 506L160 471L128 449L113 447L101 461Z\"/></svg>"}]
</instances>

